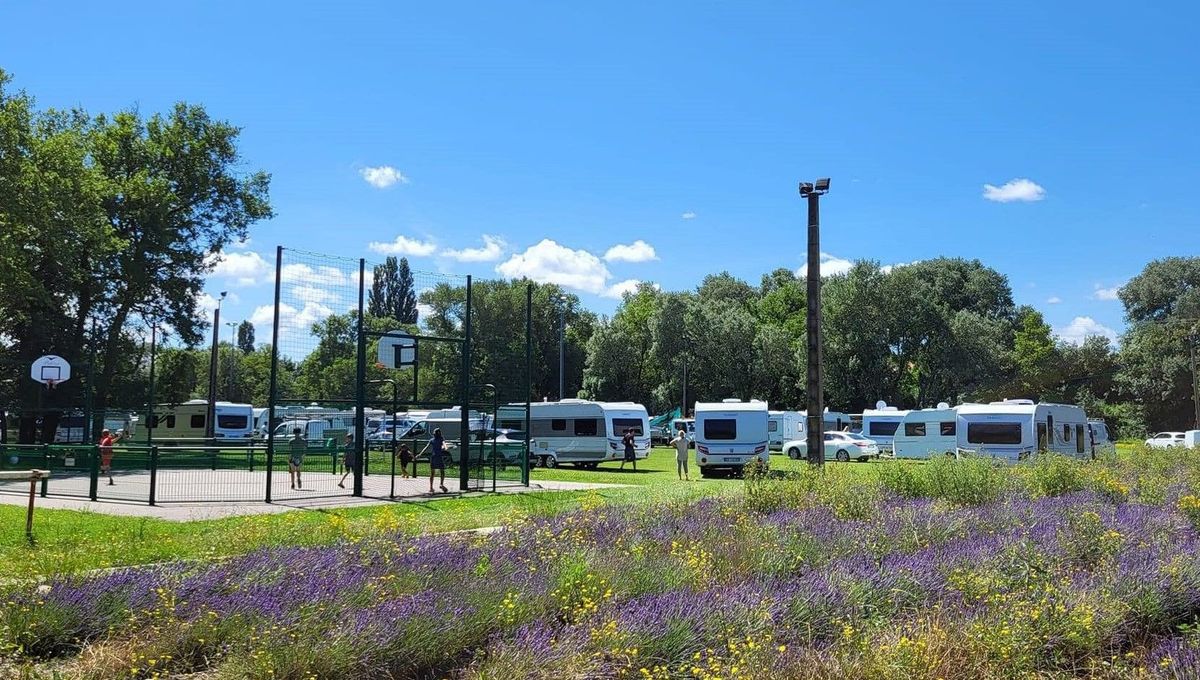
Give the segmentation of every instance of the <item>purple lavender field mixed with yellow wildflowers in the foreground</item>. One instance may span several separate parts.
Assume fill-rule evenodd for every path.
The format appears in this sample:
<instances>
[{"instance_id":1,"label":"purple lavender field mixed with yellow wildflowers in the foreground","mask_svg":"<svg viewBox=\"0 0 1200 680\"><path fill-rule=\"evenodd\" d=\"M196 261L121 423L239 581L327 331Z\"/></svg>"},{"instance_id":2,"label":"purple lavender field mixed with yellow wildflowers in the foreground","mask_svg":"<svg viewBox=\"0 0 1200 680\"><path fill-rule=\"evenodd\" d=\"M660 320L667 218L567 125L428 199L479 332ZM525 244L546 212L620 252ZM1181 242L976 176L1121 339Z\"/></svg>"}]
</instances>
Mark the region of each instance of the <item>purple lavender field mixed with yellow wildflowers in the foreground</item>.
<instances>
[{"instance_id":1,"label":"purple lavender field mixed with yellow wildflowers in the foreground","mask_svg":"<svg viewBox=\"0 0 1200 680\"><path fill-rule=\"evenodd\" d=\"M16 586L52 678L1200 678L1200 461L882 463Z\"/></svg>"}]
</instances>

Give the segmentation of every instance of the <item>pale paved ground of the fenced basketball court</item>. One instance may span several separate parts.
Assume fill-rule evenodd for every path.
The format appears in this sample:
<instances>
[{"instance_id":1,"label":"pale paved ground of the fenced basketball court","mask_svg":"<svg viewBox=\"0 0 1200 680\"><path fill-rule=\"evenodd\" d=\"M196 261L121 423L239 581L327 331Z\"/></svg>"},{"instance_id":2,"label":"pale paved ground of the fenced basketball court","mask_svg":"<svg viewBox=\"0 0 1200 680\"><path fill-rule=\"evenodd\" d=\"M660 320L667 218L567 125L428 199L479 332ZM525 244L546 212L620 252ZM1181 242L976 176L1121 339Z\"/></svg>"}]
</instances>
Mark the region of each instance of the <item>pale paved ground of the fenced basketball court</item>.
<instances>
[{"instance_id":1,"label":"pale paved ground of the fenced basketball court","mask_svg":"<svg viewBox=\"0 0 1200 680\"><path fill-rule=\"evenodd\" d=\"M389 498L391 477L389 475L368 475L364 477L364 497L350 495L349 488L337 486L341 475L330 473L305 473L301 483L304 488L289 488L287 473L275 473L271 479L272 503L263 503L266 488L265 471L246 470L160 470L156 485L157 505L149 505L150 474L118 473L115 483L108 485L101 479L98 498L88 499L88 477L85 475L62 475L50 479L47 498L38 497L37 507L62 510L85 510L107 514L131 517L157 517L178 522L196 519L216 519L241 514L263 514L289 512L293 510L330 510L340 507L364 507L389 503L424 503L428 500L480 495L491 493L491 481L476 491L458 492L458 480L446 477L450 493L430 494L428 479L396 477L395 498ZM346 480L350 487L353 479ZM584 491L599 488L617 488L622 485L600 485L582 482L556 482L541 480L529 487L512 482L497 482L497 493L529 493L545 491ZM186 495L185 495L186 494ZM194 499L198 494L211 497L211 501L184 501ZM175 500L173 500L175 499ZM29 501L29 482L0 483L0 503L24 505Z\"/></svg>"}]
</instances>

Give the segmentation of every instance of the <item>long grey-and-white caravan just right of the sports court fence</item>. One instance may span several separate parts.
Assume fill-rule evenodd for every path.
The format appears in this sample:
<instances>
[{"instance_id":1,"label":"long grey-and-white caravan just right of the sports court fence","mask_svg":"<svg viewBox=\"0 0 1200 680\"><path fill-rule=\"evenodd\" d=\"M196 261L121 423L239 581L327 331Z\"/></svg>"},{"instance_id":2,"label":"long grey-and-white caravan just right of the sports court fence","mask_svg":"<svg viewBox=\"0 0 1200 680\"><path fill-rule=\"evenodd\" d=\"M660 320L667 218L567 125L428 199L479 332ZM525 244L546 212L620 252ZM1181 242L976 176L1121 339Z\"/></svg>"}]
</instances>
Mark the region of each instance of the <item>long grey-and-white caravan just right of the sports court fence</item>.
<instances>
[{"instance_id":1,"label":"long grey-and-white caravan just right of the sports court fence","mask_svg":"<svg viewBox=\"0 0 1200 680\"><path fill-rule=\"evenodd\" d=\"M500 407L498 417L502 428L524 431L524 404ZM622 437L626 429L634 431L635 457L646 458L650 452L650 416L642 404L587 399L533 402L529 456L546 468L563 463L595 468L605 461L625 457Z\"/></svg>"}]
</instances>

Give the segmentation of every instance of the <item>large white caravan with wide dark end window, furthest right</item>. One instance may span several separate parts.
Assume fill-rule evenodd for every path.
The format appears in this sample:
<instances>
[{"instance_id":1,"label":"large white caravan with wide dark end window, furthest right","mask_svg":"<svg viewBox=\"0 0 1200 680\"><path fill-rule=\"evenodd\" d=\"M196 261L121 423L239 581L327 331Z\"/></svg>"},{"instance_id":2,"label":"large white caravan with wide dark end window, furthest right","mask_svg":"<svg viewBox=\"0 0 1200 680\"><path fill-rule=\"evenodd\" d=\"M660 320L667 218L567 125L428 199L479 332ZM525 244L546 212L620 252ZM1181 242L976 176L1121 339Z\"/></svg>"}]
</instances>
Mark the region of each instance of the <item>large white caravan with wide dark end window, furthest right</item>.
<instances>
[{"instance_id":1,"label":"large white caravan with wide dark end window, furthest right","mask_svg":"<svg viewBox=\"0 0 1200 680\"><path fill-rule=\"evenodd\" d=\"M1091 456L1087 414L1069 404L1004 399L958 409L959 449L1010 462L1038 451Z\"/></svg>"}]
</instances>

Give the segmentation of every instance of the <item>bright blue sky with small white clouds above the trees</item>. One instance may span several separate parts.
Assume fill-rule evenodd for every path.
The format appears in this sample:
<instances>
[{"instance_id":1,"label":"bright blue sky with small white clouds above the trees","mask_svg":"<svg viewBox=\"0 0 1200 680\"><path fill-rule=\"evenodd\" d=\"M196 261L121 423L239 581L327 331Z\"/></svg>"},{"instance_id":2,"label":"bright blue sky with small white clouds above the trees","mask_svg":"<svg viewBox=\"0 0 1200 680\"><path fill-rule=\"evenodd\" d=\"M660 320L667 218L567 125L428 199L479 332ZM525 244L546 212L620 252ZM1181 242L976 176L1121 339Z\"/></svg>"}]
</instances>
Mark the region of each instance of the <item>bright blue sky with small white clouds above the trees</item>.
<instances>
[{"instance_id":1,"label":"bright blue sky with small white clouds above the trees","mask_svg":"<svg viewBox=\"0 0 1200 680\"><path fill-rule=\"evenodd\" d=\"M829 270L979 258L1069 338L1196 253L1194 5L577 5L6 4L0 65L42 106L245 128L278 216L218 267L227 319L269 312L276 245L601 313L631 281L756 283L804 264L796 183L823 175Z\"/></svg>"}]
</instances>

